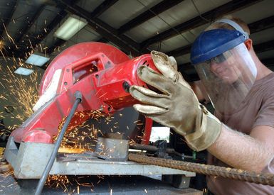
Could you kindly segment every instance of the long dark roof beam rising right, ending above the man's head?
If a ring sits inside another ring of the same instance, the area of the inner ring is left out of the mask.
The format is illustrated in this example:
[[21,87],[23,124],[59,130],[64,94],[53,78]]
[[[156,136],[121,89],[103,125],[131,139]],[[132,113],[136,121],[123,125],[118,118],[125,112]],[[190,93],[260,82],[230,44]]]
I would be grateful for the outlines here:
[[[196,16],[195,18],[192,18],[189,21],[186,21],[186,22],[181,23],[177,26],[174,26],[174,28],[169,28],[168,30],[165,30],[164,32],[159,33],[158,35],[155,35],[152,38],[148,38],[147,40],[144,40],[141,43],[141,48],[147,48],[149,45],[152,45],[157,42],[161,42],[162,40],[171,38],[174,35],[178,35],[178,32],[184,33],[187,30],[191,30],[196,27],[202,26],[202,25],[208,23],[208,21],[213,21],[214,18],[219,18],[226,14],[233,13],[235,11],[244,9],[248,6],[258,3],[259,1],[262,1],[262,0],[233,0],[233,1],[229,1],[228,3],[223,4],[222,6],[218,6],[216,9],[212,9],[211,11],[207,11],[206,13],[201,14],[201,16]],[[206,20],[208,20],[208,21],[204,20],[201,17],[206,18]]]

